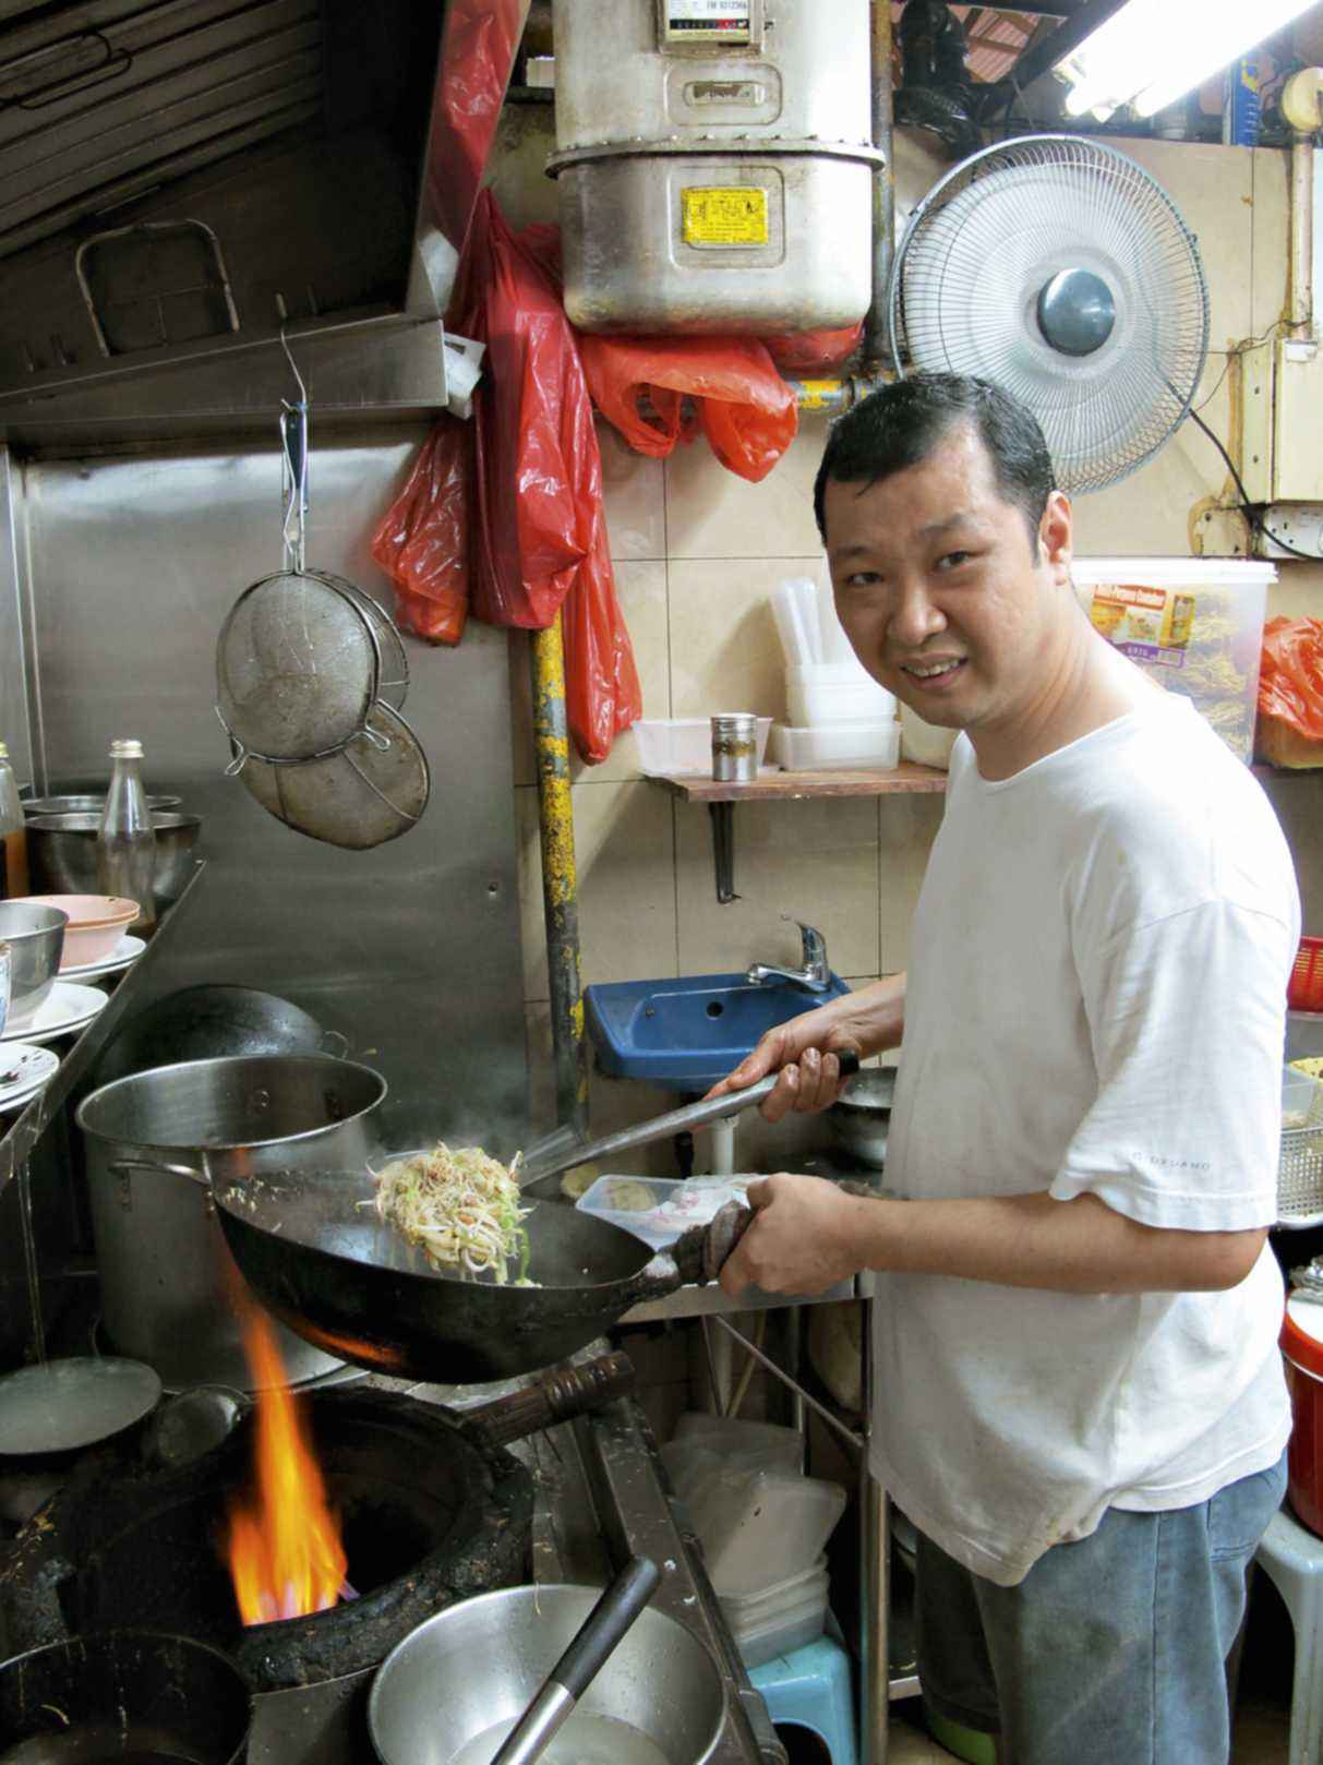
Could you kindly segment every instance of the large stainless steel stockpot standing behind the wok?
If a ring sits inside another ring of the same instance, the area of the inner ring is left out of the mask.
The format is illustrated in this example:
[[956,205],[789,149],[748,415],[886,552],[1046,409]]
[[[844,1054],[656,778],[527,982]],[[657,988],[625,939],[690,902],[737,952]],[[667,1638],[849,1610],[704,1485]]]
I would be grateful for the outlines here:
[[[86,1135],[102,1318],[122,1354],[164,1384],[249,1389],[242,1283],[199,1183],[254,1183],[326,1161],[363,1168],[367,1115],[386,1094],[369,1066],[330,1055],[243,1055],[157,1066],[93,1091]],[[339,1363],[279,1331],[291,1384]]]

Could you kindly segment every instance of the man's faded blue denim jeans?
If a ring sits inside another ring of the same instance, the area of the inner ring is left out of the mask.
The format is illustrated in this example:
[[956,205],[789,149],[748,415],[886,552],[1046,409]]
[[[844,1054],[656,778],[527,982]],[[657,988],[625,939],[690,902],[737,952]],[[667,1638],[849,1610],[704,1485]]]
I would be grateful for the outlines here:
[[1286,1460],[1196,1507],[1110,1507],[997,1587],[919,1536],[919,1679],[1011,1765],[1226,1765],[1226,1657]]

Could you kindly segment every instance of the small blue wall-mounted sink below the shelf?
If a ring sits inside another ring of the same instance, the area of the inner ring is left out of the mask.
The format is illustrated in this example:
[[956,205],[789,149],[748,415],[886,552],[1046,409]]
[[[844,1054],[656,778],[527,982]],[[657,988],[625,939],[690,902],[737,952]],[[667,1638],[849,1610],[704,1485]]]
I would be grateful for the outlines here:
[[739,1066],[764,1031],[848,990],[836,974],[820,994],[792,981],[686,974],[586,987],[584,1013],[603,1073],[647,1078],[667,1091],[706,1091]]

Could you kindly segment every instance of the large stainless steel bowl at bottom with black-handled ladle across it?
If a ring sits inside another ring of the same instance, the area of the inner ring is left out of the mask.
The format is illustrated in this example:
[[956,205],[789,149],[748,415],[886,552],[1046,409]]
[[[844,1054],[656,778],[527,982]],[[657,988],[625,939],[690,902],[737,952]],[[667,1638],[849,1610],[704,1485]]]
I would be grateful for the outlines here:
[[[505,1587],[420,1624],[372,1682],[367,1726],[383,1765],[450,1760],[494,1730],[490,1753],[475,1751],[475,1760],[489,1760],[598,1596],[600,1588],[563,1583]],[[704,1765],[725,1719],[716,1661],[683,1624],[649,1608],[561,1730],[566,1758],[575,1724],[593,1728],[602,1717],[623,1726],[614,1735],[605,1730],[614,1744],[593,1756],[630,1760],[628,1730],[635,1730],[667,1765]]]

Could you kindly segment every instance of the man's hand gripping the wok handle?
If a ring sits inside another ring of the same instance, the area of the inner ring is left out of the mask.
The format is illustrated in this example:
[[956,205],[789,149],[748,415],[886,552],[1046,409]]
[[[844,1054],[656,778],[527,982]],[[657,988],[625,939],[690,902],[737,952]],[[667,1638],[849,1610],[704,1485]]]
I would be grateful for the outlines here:
[[820,1294],[864,1266],[854,1211],[861,1204],[824,1177],[762,1177],[748,1186],[755,1220],[721,1269],[721,1290]]

